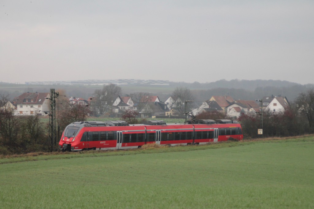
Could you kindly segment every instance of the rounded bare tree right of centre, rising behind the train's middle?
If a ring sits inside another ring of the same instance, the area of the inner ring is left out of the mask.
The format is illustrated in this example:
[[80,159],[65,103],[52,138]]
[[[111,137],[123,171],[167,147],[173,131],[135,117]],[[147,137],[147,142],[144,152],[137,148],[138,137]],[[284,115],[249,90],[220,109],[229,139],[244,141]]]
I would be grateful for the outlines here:
[[191,103],[187,101],[193,100],[193,94],[190,89],[185,86],[176,87],[176,89],[172,92],[171,97],[175,101],[172,104],[172,108],[179,112],[181,115],[191,111]]

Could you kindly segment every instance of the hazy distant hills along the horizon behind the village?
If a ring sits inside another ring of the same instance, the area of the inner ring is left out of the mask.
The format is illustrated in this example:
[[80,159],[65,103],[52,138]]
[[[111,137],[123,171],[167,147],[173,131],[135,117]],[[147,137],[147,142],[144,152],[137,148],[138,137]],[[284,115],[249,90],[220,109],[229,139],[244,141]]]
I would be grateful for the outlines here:
[[[161,81],[160,81],[161,82]],[[301,85],[289,81],[280,80],[219,80],[209,83],[185,83],[185,82],[169,82],[169,85],[154,85],[149,82],[143,84],[123,84],[122,96],[142,91],[149,92],[151,95],[158,95],[162,101],[178,86],[186,86],[193,94],[195,101],[205,101],[214,95],[229,95],[234,99],[255,100],[264,96],[284,96],[292,102],[301,92],[314,88],[313,84]],[[49,92],[51,88],[56,91],[62,89],[66,92],[66,96],[89,98],[96,89],[102,88],[102,85],[43,85],[43,84],[9,84],[0,82],[0,94],[9,95],[11,99],[21,95],[24,92]]]

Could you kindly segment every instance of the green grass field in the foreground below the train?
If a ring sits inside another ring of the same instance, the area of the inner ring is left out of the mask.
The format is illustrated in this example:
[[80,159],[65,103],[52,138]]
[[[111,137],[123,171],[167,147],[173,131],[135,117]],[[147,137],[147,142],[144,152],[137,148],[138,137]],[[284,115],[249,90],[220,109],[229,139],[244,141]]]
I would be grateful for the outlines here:
[[1,208],[314,208],[314,138],[0,158]]

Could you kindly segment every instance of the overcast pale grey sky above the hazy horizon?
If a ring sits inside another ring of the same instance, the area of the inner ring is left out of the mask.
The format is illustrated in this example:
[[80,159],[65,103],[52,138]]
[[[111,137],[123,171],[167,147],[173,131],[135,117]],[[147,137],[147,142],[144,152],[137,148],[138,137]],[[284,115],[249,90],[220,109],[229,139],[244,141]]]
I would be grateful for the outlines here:
[[314,83],[314,1],[0,0],[0,81]]

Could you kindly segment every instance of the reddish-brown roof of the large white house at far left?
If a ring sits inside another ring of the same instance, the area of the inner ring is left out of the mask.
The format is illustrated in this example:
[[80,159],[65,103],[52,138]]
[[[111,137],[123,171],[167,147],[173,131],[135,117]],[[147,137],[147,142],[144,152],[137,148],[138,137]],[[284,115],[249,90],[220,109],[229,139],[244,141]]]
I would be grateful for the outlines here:
[[22,95],[16,98],[17,105],[33,105],[33,104],[43,104],[46,98],[49,98],[49,93],[23,93]]

